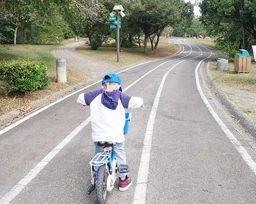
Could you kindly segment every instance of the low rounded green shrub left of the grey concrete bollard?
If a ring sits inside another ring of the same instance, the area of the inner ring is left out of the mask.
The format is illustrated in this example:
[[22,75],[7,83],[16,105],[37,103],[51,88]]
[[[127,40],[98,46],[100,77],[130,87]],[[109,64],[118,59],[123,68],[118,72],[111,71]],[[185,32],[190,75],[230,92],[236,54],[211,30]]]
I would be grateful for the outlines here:
[[32,92],[50,84],[47,66],[31,58],[0,63],[1,88],[6,94]]

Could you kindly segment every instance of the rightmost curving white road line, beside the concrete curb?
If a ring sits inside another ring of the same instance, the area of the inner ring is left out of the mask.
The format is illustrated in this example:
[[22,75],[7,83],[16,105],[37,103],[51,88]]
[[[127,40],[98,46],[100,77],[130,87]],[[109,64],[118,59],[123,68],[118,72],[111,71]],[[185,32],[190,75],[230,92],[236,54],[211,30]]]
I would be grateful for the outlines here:
[[199,64],[197,65],[197,67],[195,69],[197,90],[198,90],[204,104],[206,105],[207,109],[211,113],[211,115],[214,117],[216,122],[220,125],[220,127],[222,128],[222,130],[226,134],[227,138],[230,140],[230,142],[233,144],[233,146],[236,148],[236,150],[240,153],[243,160],[247,163],[247,165],[250,167],[252,172],[256,175],[256,163],[253,161],[253,159],[250,157],[250,155],[247,153],[247,151],[242,147],[242,145],[239,143],[239,141],[235,138],[234,134],[224,124],[224,122],[217,115],[217,113],[214,111],[214,109],[212,109],[212,107],[210,106],[209,102],[207,101],[206,97],[203,94],[203,91],[200,87],[200,83],[199,83],[199,79],[198,79],[198,73],[197,73],[198,67],[200,66],[200,64],[203,60],[201,60],[199,62]]

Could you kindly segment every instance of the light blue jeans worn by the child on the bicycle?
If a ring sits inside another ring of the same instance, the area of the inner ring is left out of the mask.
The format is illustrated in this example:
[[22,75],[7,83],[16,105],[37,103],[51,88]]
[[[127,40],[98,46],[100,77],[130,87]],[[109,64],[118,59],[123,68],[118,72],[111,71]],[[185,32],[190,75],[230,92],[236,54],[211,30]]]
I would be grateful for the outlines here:
[[[98,154],[99,152],[103,151],[104,147],[100,147],[94,143],[95,146],[95,155]],[[115,159],[117,162],[117,167],[119,167],[120,164],[126,164],[126,156],[125,156],[125,151],[124,151],[124,142],[122,143],[116,143],[116,145],[113,146],[114,153],[115,153]],[[119,177],[126,176],[129,173],[119,173]]]

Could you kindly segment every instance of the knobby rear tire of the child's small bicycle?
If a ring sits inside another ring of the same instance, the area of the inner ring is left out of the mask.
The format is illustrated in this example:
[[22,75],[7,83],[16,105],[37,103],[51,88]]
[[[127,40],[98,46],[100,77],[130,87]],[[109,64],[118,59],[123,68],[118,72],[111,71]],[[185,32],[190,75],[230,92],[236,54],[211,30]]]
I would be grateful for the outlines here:
[[108,172],[106,164],[104,164],[98,169],[97,182],[95,186],[96,199],[99,204],[105,204],[108,199],[109,192],[107,191],[107,178]]

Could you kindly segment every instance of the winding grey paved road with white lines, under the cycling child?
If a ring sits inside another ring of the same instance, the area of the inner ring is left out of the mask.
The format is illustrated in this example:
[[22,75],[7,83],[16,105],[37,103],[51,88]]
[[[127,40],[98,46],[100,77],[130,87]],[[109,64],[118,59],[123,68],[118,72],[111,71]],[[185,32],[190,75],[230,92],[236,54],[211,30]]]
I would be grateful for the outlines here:
[[[125,149],[133,185],[107,203],[256,203],[256,155],[247,134],[218,101],[201,70],[209,48],[175,40],[180,54],[119,74],[130,110]],[[199,66],[200,65],[200,66]],[[94,83],[31,113],[0,133],[0,203],[95,203],[90,111],[76,104]]]

